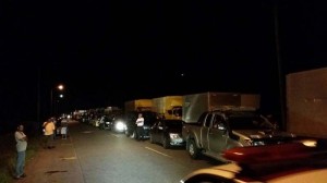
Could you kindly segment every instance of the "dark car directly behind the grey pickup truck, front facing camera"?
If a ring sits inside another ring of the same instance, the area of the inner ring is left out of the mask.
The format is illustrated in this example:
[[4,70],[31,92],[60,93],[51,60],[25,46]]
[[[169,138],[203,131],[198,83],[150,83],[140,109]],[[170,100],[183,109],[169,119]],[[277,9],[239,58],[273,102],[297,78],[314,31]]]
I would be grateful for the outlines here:
[[161,144],[164,148],[184,146],[182,127],[182,120],[158,119],[149,130],[149,141],[150,143]]

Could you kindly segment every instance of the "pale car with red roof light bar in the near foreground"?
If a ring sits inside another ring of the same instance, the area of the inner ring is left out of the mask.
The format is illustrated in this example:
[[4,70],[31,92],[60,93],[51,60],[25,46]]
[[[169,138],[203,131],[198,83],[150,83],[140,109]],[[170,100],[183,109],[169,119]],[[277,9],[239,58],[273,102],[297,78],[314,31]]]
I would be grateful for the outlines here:
[[223,154],[230,163],[199,169],[180,183],[325,183],[326,146],[302,143],[235,147]]

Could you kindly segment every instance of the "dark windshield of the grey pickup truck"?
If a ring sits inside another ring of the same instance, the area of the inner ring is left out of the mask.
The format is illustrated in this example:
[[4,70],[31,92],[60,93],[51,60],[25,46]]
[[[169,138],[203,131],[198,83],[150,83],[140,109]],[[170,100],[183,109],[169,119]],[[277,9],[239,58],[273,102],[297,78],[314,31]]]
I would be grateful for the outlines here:
[[232,130],[271,130],[274,125],[258,115],[234,115],[229,118]]

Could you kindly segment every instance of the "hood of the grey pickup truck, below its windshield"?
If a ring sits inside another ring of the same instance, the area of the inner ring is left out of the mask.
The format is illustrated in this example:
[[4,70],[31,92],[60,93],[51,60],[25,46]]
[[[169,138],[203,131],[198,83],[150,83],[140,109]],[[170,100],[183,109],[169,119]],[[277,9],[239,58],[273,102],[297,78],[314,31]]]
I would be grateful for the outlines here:
[[251,139],[294,138],[295,134],[275,130],[237,130],[234,135]]

